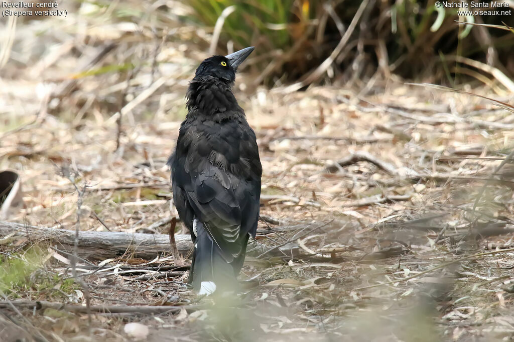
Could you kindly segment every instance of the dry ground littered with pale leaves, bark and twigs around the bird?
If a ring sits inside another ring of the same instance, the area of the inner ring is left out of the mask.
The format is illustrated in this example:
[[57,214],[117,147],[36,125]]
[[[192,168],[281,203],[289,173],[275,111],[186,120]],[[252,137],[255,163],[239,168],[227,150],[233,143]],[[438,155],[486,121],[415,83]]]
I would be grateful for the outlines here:
[[[148,227],[174,215],[165,163],[205,53],[166,43],[155,50],[157,63],[134,59],[134,72],[86,75],[77,72],[102,52],[106,64],[130,54],[151,61],[154,45],[141,52],[56,39],[39,63],[3,70],[0,81],[0,169],[19,172],[25,204],[9,220],[75,229],[81,204],[81,230],[166,234],[168,226]],[[132,340],[124,327],[134,322],[149,328],[142,340],[151,341],[512,339],[512,162],[495,172],[512,147],[512,113],[395,77],[362,91],[293,93],[251,81],[242,73],[235,90],[264,169],[256,241],[280,248],[247,257],[244,294],[198,298],[183,284],[186,269],[155,271],[174,265],[170,253],[127,254],[79,260],[90,304],[180,308],[90,317],[7,309],[7,301],[85,303],[69,255],[45,245],[34,261],[38,244],[28,233],[0,239],[2,253],[39,265],[5,291],[4,340]]]

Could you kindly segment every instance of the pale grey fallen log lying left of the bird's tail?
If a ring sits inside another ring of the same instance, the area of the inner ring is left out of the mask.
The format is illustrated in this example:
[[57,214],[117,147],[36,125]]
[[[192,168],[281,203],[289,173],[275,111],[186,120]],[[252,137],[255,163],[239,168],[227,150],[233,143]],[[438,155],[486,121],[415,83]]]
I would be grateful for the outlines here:
[[[0,221],[0,236],[26,237],[33,242],[45,241],[59,249],[71,252],[75,242],[75,230],[26,226]],[[189,234],[176,234],[177,249],[187,255],[193,247]],[[2,240],[0,240],[0,244]],[[170,237],[165,234],[126,232],[80,231],[78,256],[89,260],[105,260],[121,255],[155,258],[163,253],[171,255]]]

